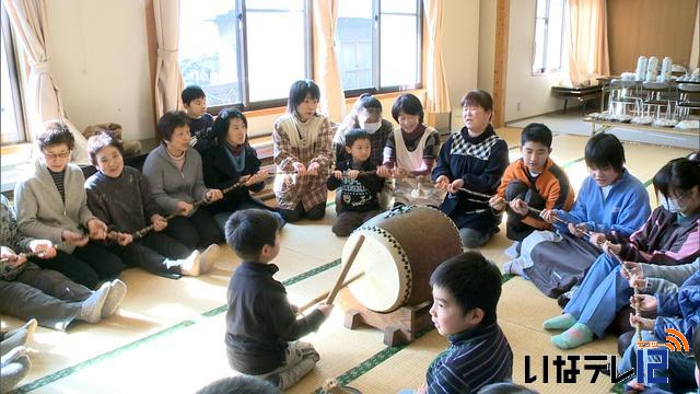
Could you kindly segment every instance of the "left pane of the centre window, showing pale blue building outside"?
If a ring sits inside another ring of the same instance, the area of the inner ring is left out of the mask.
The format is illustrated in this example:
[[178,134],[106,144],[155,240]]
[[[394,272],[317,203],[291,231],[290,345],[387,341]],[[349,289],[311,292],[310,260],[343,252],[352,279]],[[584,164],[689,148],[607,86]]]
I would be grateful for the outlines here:
[[340,0],[336,47],[343,90],[372,88],[372,0]]

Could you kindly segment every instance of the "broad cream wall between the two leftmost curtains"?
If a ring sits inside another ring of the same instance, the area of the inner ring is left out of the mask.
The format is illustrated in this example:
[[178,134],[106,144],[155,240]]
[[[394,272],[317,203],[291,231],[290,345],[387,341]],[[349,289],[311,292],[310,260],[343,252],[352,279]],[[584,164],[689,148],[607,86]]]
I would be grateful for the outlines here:
[[139,0],[47,1],[50,68],[79,129],[114,121],[125,139],[153,136],[153,96]]

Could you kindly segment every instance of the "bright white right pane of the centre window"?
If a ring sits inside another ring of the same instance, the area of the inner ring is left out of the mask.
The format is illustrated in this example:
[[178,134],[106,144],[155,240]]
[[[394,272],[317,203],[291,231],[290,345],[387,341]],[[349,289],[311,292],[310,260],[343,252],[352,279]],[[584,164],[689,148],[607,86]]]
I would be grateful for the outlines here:
[[[384,2],[382,2],[384,3]],[[382,14],[380,83],[382,86],[415,84],[418,76],[417,18]]]

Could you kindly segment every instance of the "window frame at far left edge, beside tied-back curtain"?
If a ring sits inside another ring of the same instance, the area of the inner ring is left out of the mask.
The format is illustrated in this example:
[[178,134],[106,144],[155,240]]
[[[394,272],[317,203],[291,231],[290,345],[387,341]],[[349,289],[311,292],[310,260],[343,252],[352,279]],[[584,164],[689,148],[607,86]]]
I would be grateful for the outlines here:
[[10,77],[10,90],[12,92],[12,104],[14,109],[14,119],[15,127],[18,129],[18,134],[20,135],[19,141],[12,142],[3,142],[0,143],[2,147],[15,146],[21,143],[31,142],[31,136],[27,132],[26,121],[24,118],[24,102],[22,100],[22,89],[20,81],[20,70],[18,68],[18,53],[16,45],[14,42],[14,36],[12,34],[12,28],[10,26],[10,19],[8,15],[8,11],[4,8],[4,3],[0,5],[0,21],[2,24],[2,40],[4,42],[5,54],[0,54],[0,56],[4,56],[8,62],[8,72]]

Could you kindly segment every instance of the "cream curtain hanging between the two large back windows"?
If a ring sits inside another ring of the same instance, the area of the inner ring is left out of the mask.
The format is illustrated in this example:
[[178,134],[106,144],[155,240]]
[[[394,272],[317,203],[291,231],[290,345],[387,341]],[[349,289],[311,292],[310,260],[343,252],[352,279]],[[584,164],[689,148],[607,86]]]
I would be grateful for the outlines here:
[[346,115],[346,96],[340,81],[336,25],[338,0],[314,0],[314,80],[320,89],[320,108],[331,121],[339,123]]

